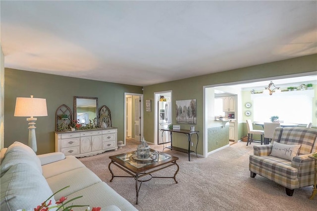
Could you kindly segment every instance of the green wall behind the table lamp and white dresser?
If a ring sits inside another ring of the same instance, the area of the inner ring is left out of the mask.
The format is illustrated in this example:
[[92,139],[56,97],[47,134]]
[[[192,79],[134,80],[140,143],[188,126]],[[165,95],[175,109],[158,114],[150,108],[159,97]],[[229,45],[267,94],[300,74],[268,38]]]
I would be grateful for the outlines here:
[[14,117],[17,97],[45,98],[48,116],[37,117],[37,154],[54,152],[55,111],[65,104],[73,111],[73,97],[97,97],[99,108],[111,111],[112,126],[118,128],[118,141],[124,140],[124,93],[142,94],[142,87],[80,78],[57,76],[5,68],[4,147],[14,141],[28,143],[26,117]]

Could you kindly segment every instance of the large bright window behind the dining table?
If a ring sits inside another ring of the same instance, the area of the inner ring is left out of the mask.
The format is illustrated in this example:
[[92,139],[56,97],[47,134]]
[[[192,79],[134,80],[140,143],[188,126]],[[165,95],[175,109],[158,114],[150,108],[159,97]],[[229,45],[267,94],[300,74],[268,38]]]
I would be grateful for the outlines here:
[[313,121],[313,90],[282,92],[273,95],[254,94],[254,121],[268,122],[271,116],[288,123]]

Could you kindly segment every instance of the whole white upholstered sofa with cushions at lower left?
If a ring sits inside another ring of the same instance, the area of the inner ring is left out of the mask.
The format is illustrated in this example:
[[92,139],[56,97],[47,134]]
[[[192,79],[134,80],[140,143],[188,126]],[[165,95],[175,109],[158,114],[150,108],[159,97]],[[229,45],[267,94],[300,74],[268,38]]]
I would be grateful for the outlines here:
[[[31,148],[14,142],[1,149],[1,211],[33,210],[56,191],[52,206],[60,197],[73,205],[101,207],[102,211],[137,211],[126,199],[73,156],[49,153],[36,156]],[[105,170],[107,166],[105,166]],[[87,207],[73,208],[74,211]],[[50,210],[51,211],[51,210]]]

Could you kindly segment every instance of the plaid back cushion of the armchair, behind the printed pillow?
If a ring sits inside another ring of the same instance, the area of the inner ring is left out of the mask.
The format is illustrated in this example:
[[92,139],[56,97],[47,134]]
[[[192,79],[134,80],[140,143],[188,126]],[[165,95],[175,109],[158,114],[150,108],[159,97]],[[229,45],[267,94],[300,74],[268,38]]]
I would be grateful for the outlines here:
[[313,146],[317,138],[317,130],[303,127],[284,127],[280,135],[281,144],[301,145],[298,155],[313,153]]

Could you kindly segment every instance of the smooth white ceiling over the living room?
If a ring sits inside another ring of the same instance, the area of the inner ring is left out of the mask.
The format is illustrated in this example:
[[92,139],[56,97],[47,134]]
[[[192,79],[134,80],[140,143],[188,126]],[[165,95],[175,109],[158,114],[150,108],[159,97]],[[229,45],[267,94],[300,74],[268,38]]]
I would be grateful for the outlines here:
[[317,1],[0,2],[4,67],[147,86],[317,53]]

